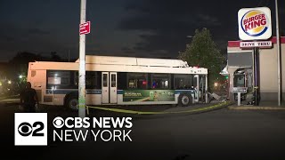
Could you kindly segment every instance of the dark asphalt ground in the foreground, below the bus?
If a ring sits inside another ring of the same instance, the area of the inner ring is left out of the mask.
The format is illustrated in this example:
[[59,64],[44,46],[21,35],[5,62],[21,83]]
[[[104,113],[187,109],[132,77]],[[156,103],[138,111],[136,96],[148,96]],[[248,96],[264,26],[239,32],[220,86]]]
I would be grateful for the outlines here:
[[[0,101],[17,103],[18,100]],[[216,102],[212,101],[211,105]],[[260,103],[259,107],[274,106],[278,107],[272,101]],[[142,106],[125,107],[136,109]],[[186,111],[206,107],[209,107],[208,104],[186,108],[147,105],[142,107],[142,111]],[[229,107],[242,106],[232,104]],[[123,116],[110,111],[93,110],[93,117]],[[92,136],[86,141],[67,142],[53,140],[53,118],[77,116],[77,112],[52,106],[43,110],[48,113],[47,147],[14,146],[13,119],[14,112],[17,111],[17,105],[0,108],[0,141],[4,146],[2,156],[9,157],[8,159],[285,159],[285,112],[279,110],[229,110],[224,107],[191,116],[189,113],[126,115],[133,117],[134,126],[130,134],[132,142],[94,141]]]

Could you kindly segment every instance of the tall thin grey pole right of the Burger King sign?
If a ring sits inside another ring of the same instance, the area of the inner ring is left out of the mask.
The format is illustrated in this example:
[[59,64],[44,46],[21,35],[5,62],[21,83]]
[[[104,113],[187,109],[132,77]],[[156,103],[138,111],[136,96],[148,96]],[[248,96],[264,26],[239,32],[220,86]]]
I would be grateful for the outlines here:
[[278,106],[281,106],[281,61],[280,61],[280,39],[279,39],[279,18],[278,18],[278,4],[275,0],[276,13],[276,41],[277,41],[277,76],[278,76]]

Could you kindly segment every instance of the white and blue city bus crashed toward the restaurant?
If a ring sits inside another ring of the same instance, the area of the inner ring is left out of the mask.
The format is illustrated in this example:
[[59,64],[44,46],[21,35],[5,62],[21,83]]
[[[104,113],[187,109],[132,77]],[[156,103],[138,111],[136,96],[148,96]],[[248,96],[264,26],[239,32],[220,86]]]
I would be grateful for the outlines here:
[[[79,60],[28,63],[40,104],[77,109]],[[86,105],[179,105],[207,101],[208,69],[183,60],[85,56]]]

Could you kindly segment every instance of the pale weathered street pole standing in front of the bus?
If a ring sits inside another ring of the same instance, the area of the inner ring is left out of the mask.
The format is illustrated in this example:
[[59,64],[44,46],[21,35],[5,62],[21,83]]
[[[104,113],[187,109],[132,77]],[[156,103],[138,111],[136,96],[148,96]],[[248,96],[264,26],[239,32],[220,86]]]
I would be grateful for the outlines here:
[[[86,0],[81,0],[80,24],[85,23]],[[79,36],[78,116],[85,117],[85,34]]]

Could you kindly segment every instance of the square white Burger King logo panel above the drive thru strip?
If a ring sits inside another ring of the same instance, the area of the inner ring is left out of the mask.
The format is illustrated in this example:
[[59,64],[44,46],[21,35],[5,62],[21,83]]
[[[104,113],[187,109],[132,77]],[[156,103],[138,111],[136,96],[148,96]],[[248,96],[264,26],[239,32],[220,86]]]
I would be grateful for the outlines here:
[[265,40],[272,36],[271,12],[269,8],[240,9],[238,19],[241,40]]

